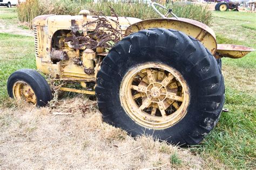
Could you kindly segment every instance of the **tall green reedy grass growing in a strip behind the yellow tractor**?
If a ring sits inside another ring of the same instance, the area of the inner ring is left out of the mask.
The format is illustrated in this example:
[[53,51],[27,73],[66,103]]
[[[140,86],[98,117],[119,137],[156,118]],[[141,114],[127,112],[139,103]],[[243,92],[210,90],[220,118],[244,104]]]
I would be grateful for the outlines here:
[[[56,15],[77,15],[80,10],[88,9],[95,12],[102,12],[105,16],[111,16],[110,8],[116,11],[118,16],[135,17],[140,19],[159,18],[159,15],[151,8],[151,6],[143,3],[92,3],[89,1],[39,1],[27,0],[18,6],[18,19],[21,22],[27,22],[29,26],[32,19],[39,15],[56,14]],[[207,6],[202,5],[167,5],[172,8],[178,17],[190,18],[198,20],[205,24],[211,24],[212,13]],[[164,13],[165,11],[163,11]]]

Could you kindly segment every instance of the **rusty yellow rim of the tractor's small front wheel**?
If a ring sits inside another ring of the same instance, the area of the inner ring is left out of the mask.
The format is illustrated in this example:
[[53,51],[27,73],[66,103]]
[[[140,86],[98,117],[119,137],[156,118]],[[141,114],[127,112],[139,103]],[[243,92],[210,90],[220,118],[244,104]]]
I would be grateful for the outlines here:
[[14,98],[19,100],[25,100],[26,102],[33,104],[37,103],[35,92],[29,84],[24,81],[17,81],[14,83],[12,94],[14,95]]

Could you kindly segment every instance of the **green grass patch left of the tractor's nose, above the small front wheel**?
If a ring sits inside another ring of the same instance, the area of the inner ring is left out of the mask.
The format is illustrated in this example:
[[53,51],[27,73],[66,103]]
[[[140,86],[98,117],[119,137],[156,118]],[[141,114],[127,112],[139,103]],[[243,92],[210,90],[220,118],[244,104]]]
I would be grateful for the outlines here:
[[0,104],[8,97],[6,82],[21,68],[36,68],[33,37],[0,33]]

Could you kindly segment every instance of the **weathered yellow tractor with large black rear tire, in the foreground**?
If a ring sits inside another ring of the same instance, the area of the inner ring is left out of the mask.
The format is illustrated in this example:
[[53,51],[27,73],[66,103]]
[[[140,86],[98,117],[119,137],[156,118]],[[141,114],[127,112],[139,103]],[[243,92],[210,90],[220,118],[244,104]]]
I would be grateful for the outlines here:
[[[96,94],[103,120],[133,137],[198,144],[223,109],[221,58],[254,49],[217,44],[207,25],[178,18],[160,4],[152,8],[162,18],[91,16],[87,10],[36,17],[37,68],[65,82],[60,90]],[[8,94],[38,107],[52,99],[49,84],[32,69],[10,75]]]

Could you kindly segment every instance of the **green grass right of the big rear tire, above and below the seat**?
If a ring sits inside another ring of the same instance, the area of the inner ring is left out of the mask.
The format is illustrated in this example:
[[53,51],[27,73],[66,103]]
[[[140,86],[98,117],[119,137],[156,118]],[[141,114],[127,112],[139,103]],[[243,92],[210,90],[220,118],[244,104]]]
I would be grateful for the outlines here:
[[[214,11],[213,15],[218,44],[256,48],[255,13]],[[251,28],[243,27],[245,23]],[[229,75],[224,77],[224,108],[229,112],[223,112],[219,123],[203,143],[192,148],[205,159],[211,156],[230,168],[256,167],[256,90],[251,87],[255,86],[256,80],[255,58],[256,52],[242,59],[223,58],[223,73]]]

